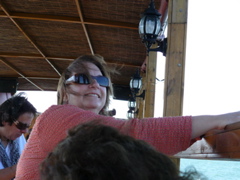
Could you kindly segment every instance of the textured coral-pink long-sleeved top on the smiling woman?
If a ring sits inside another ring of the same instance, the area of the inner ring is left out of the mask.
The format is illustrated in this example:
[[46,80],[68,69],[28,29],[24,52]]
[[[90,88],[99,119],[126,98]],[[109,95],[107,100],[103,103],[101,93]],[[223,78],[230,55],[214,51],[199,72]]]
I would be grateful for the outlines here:
[[38,180],[39,166],[56,144],[66,137],[67,130],[91,120],[100,119],[122,133],[142,139],[162,153],[173,155],[191,143],[192,119],[163,117],[120,120],[101,116],[72,105],[54,105],[41,114],[17,165],[16,180]]

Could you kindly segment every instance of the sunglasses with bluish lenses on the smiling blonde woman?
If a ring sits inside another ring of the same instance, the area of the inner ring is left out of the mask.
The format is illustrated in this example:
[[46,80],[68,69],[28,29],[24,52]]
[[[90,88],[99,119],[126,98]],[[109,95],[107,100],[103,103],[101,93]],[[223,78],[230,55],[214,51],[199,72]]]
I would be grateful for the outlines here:
[[[109,87],[109,79],[106,76],[90,76],[95,79],[100,86]],[[91,84],[86,74],[76,74],[66,80],[67,83],[78,83],[78,84]]]

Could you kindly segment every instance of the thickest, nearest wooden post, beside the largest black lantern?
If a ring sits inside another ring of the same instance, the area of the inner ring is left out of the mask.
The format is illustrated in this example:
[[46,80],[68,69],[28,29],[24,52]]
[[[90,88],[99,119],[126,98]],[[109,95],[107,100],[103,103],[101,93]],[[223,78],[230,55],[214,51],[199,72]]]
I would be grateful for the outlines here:
[[[187,0],[169,0],[168,47],[165,69],[163,116],[180,116],[183,108],[187,36]],[[173,158],[179,166],[180,159]]]

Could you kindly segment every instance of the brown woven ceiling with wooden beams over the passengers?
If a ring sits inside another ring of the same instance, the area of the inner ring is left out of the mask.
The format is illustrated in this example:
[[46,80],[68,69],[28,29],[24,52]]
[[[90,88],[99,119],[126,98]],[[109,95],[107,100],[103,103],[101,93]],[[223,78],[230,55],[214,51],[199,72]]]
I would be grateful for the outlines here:
[[[69,63],[83,54],[100,54],[120,72],[112,76],[115,89],[127,94],[131,76],[146,57],[138,23],[149,3],[1,0],[0,78],[18,78],[21,91],[56,91]],[[155,7],[160,9],[161,0]]]

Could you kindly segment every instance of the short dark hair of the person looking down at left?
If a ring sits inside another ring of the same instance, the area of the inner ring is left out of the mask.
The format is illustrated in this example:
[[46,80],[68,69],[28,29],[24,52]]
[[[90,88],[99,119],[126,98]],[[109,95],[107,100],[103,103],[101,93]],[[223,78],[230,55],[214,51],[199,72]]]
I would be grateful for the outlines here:
[[24,93],[12,96],[0,105],[0,126],[3,126],[3,122],[12,125],[13,121],[24,113],[33,113],[35,116],[37,110]]

